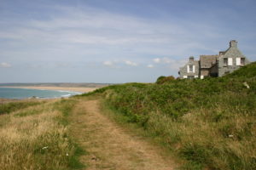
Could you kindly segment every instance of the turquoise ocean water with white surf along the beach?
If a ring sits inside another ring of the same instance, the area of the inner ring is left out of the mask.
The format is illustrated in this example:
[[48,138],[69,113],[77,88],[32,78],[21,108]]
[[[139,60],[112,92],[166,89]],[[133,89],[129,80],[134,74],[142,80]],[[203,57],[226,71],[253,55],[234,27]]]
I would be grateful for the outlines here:
[[27,89],[27,88],[0,88],[0,98],[5,99],[28,99],[32,97],[51,99],[70,97],[78,92],[69,92],[61,90],[39,90],[39,89]]

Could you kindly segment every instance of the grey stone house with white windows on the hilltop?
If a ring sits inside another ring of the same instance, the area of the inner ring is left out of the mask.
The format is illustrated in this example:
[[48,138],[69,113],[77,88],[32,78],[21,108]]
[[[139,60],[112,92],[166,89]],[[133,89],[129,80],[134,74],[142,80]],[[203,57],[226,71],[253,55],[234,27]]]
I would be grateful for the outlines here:
[[180,68],[180,78],[222,77],[249,64],[245,55],[237,48],[236,40],[230,41],[230,48],[217,55],[200,55],[199,60],[189,57],[189,62]]

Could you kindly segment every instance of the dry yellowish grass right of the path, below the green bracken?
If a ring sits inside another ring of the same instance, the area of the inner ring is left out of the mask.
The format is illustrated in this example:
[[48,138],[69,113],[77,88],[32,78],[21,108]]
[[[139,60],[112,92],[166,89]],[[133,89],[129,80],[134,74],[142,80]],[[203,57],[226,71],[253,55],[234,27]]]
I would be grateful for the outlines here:
[[170,150],[176,150],[193,163],[184,169],[201,169],[194,162],[205,162],[210,169],[253,170],[256,167],[255,117],[232,115],[218,122],[209,122],[208,118],[204,119],[208,112],[193,111],[179,122],[152,113],[147,132],[160,136],[161,142]]

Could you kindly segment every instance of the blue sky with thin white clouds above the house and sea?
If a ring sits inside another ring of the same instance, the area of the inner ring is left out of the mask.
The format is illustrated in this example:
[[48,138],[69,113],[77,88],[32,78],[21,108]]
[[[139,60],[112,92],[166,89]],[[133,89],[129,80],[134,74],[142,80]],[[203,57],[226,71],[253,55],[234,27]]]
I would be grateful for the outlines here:
[[1,82],[155,82],[230,40],[256,60],[255,0],[0,0]]

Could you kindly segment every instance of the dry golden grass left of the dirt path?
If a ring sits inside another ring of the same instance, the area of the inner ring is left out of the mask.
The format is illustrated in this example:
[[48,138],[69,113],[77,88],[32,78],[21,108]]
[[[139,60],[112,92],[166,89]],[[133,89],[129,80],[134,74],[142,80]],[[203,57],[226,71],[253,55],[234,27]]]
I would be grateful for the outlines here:
[[[62,123],[75,102],[72,99],[44,103],[20,101],[2,107],[9,114],[0,116],[1,169],[84,167],[78,159],[82,151],[71,138],[67,124]],[[15,105],[15,109],[5,109],[9,105]]]

